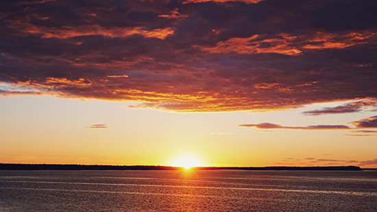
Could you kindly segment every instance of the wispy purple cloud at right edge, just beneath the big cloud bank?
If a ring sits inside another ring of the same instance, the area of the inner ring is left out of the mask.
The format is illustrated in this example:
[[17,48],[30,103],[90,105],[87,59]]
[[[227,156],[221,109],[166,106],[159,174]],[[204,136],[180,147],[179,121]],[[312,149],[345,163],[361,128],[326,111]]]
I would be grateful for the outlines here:
[[375,110],[377,107],[376,99],[365,99],[358,102],[351,102],[336,107],[322,108],[321,110],[309,110],[305,111],[304,115],[328,115],[328,114],[340,114],[340,113],[357,113],[362,112],[366,108],[372,108]]

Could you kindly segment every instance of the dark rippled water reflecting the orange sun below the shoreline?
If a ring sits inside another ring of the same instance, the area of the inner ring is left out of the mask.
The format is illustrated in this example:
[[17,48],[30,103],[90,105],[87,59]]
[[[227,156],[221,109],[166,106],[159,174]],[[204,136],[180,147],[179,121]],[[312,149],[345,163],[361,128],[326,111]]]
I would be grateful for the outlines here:
[[0,171],[0,211],[377,211],[377,171]]

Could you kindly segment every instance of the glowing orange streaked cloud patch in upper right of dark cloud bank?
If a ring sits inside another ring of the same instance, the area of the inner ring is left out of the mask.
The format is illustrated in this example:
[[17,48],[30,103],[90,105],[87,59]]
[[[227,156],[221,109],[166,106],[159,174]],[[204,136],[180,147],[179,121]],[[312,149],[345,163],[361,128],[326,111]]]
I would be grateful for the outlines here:
[[314,36],[280,34],[277,38],[266,38],[256,34],[249,38],[230,38],[217,43],[216,47],[196,47],[199,47],[202,51],[217,54],[235,52],[238,54],[276,53],[299,56],[304,49],[343,49],[368,43],[371,38],[377,38],[375,31],[351,32],[348,34],[317,32]]

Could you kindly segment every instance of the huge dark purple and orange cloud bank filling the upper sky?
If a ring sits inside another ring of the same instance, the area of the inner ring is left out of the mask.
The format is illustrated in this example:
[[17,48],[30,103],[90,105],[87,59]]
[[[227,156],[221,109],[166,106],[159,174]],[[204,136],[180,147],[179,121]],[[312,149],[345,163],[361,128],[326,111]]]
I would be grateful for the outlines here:
[[[0,95],[182,112],[376,99],[376,10],[372,0],[4,1]],[[360,109],[344,107],[308,115]]]

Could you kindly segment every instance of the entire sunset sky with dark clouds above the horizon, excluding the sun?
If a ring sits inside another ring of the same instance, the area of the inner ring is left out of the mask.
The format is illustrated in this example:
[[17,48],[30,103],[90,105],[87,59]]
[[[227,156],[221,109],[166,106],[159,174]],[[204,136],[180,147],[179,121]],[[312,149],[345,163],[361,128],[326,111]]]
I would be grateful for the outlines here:
[[376,11],[1,1],[0,163],[377,168]]

